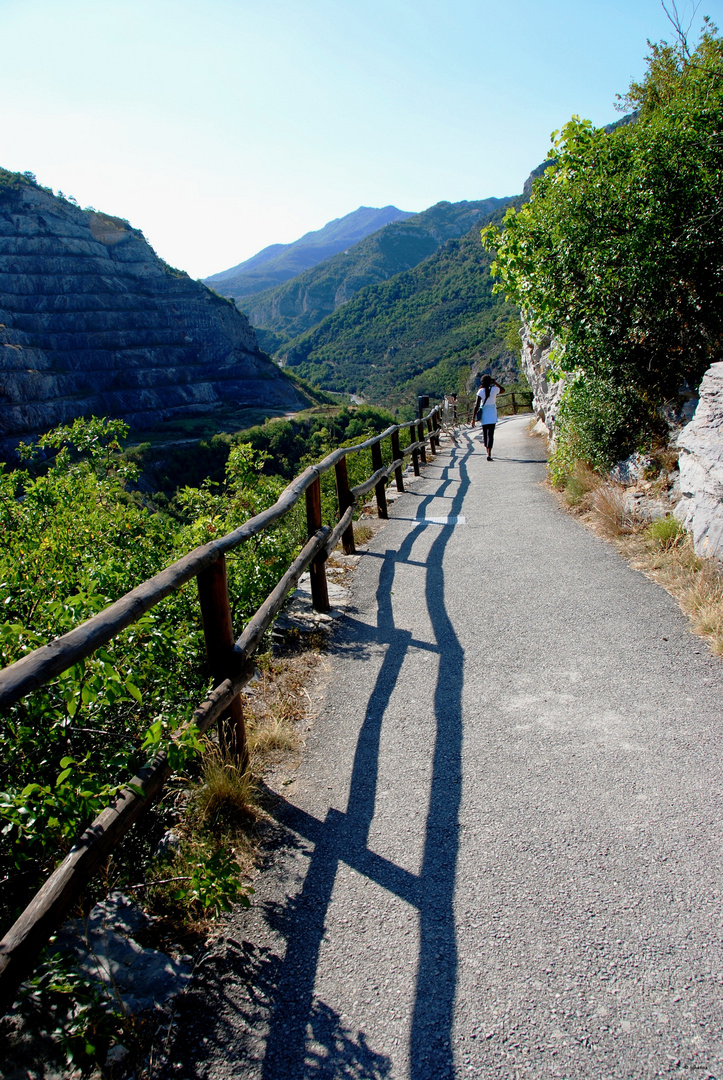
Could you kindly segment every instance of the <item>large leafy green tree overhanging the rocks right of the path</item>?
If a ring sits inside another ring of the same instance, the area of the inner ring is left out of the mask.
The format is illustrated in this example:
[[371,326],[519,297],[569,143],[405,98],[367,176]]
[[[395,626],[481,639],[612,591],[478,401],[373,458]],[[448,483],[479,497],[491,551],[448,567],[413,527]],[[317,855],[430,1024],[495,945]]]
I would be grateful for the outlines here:
[[651,46],[606,134],[574,117],[531,201],[483,237],[496,288],[565,375],[553,467],[605,468],[664,434],[659,408],[723,343],[723,43]]

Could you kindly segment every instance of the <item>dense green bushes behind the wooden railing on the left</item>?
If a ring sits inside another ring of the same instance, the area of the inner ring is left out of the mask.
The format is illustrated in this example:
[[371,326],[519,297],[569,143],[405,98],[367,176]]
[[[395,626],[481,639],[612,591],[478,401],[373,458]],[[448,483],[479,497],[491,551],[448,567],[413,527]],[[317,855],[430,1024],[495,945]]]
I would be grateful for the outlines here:
[[[227,444],[223,482],[185,486],[163,512],[133,492],[137,467],[120,453],[118,420],[77,420],[0,471],[0,666],[102,610],[188,551],[271,505],[289,478],[339,441],[388,426],[346,409],[280,421]],[[352,484],[373,471],[349,459]],[[333,471],[325,521],[336,519]],[[227,557],[237,633],[306,539],[304,504]],[[0,933],[118,785],[185,721],[209,685],[195,582],[152,608],[88,660],[5,711],[0,726]],[[198,748],[192,735],[186,750]],[[158,837],[156,838],[158,839]],[[115,880],[143,872],[116,865]]]

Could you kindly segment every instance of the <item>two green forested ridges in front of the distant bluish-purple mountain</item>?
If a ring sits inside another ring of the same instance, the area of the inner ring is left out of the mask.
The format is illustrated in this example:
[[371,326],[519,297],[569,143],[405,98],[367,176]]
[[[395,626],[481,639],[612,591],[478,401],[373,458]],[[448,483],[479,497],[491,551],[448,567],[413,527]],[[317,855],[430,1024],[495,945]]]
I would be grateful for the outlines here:
[[[516,378],[517,313],[492,293],[480,228],[521,199],[437,203],[237,303],[279,363],[376,404],[456,390],[471,365]],[[219,278],[207,280],[230,296]]]

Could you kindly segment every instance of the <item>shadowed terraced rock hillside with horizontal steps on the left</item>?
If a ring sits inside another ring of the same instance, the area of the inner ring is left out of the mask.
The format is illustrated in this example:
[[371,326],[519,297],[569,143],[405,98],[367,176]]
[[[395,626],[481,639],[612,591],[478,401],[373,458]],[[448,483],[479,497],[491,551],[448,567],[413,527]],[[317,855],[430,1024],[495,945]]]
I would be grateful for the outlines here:
[[222,403],[305,404],[247,320],[139,231],[0,172],[0,441],[78,416],[143,428]]

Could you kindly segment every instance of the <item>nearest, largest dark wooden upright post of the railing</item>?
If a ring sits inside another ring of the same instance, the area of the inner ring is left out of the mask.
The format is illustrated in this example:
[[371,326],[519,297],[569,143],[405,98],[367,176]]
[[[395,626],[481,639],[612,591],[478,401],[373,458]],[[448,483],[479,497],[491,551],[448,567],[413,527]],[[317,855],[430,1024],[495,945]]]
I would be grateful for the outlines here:
[[[224,556],[220,555],[215,563],[201,570],[196,581],[201,603],[205,651],[211,677],[217,686],[231,674],[229,669],[233,652],[233,626]],[[218,718],[218,741],[222,751],[245,772],[249,768],[249,746],[240,696],[233,699],[228,711]]]

